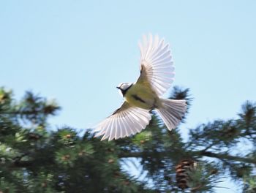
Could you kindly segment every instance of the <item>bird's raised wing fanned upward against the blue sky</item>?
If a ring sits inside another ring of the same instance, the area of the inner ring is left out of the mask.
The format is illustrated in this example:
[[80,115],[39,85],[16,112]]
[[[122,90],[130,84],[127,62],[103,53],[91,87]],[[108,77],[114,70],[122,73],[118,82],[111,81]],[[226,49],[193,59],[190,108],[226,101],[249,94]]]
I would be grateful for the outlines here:
[[174,67],[169,45],[164,39],[151,34],[143,36],[140,47],[140,77],[137,83],[151,86],[158,96],[170,88],[174,77]]

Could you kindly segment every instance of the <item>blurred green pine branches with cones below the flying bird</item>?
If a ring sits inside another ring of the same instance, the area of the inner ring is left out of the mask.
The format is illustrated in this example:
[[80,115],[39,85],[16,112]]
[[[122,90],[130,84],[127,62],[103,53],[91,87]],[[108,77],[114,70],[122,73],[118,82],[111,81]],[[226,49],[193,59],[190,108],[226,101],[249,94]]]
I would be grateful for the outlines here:
[[[191,103],[189,89],[175,87],[170,98]],[[59,110],[31,92],[18,102],[0,89],[0,192],[214,192],[227,174],[244,192],[255,192],[252,102],[237,119],[190,129],[187,141],[154,114],[143,132],[111,142],[90,129],[83,136],[69,126],[53,131],[48,118]],[[123,169],[130,158],[138,158],[144,180]]]

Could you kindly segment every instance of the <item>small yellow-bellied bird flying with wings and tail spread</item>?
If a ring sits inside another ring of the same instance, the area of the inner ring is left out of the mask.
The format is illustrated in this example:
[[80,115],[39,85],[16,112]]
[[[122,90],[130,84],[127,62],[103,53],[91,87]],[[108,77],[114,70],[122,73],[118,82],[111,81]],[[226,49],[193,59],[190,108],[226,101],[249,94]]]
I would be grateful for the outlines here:
[[156,111],[168,130],[176,128],[187,111],[185,99],[165,99],[163,94],[174,80],[170,46],[158,35],[143,35],[139,42],[140,76],[135,83],[120,83],[116,88],[124,97],[121,107],[94,128],[101,140],[117,140],[141,132]]

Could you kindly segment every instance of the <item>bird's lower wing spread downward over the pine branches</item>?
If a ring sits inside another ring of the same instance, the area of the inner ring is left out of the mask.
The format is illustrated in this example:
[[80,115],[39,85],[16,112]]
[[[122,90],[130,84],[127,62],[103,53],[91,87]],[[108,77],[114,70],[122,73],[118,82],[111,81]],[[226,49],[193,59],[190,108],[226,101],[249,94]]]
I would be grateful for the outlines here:
[[102,140],[126,137],[145,129],[150,120],[151,114],[148,110],[124,102],[118,110],[94,129],[95,132],[98,132],[95,137],[103,135]]

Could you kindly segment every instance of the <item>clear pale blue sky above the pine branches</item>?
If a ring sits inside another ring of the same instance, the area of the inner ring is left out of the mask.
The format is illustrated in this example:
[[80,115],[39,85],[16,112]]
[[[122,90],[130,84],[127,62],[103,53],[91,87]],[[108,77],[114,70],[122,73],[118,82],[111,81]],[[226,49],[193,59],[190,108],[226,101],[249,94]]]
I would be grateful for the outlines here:
[[186,133],[255,101],[255,10],[254,0],[0,1],[0,86],[56,99],[53,125],[89,128],[121,105],[118,83],[137,80],[142,34],[159,34],[173,85],[194,98]]

